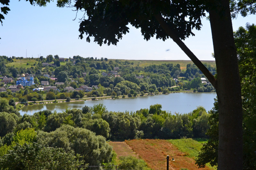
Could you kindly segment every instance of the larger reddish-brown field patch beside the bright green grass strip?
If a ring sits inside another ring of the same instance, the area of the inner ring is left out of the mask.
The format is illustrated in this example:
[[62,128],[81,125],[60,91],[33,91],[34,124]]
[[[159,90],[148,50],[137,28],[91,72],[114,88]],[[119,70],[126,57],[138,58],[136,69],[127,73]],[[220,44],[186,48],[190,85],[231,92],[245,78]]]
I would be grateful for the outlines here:
[[[154,170],[166,169],[166,156],[169,155],[169,169],[179,170],[187,168],[189,170],[198,170],[195,160],[186,157],[186,154],[181,154],[180,150],[170,142],[161,139],[144,139],[144,140],[126,140],[134,152],[140,155],[141,159],[145,160],[148,167]],[[172,156],[175,161],[171,161]],[[160,159],[160,160],[159,160]],[[209,168],[202,168],[209,170]]]

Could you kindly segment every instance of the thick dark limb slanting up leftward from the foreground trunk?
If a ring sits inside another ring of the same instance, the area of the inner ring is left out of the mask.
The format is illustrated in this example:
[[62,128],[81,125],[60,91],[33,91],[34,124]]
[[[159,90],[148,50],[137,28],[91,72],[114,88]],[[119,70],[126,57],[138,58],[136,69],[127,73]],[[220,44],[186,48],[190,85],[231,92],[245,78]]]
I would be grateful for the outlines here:
[[186,55],[192,60],[193,63],[196,64],[196,66],[204,73],[206,78],[212,83],[213,87],[216,89],[216,78],[212,75],[212,73],[204,66],[204,64],[198,60],[196,55],[190,51],[190,49],[184,44],[183,41],[180,40],[180,38],[177,36],[178,33],[175,33],[175,31],[166,24],[164,21],[163,16],[159,13],[155,15],[156,20],[160,24],[160,26],[164,29],[164,31],[172,38],[172,40],[184,51]]

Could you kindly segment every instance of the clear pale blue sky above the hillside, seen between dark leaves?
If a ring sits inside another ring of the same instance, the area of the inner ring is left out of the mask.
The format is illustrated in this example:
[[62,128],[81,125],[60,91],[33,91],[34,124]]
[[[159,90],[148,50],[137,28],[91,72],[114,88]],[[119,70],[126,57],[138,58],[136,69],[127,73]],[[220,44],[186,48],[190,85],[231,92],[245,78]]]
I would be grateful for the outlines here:
[[[57,54],[64,58],[80,55],[108,59],[190,60],[171,39],[162,41],[152,38],[146,41],[140,29],[132,26],[130,33],[124,35],[117,46],[100,47],[95,42],[80,40],[79,20],[73,21],[76,11],[58,8],[56,2],[39,7],[25,1],[11,1],[9,8],[11,11],[4,16],[3,26],[0,26],[0,55],[26,57],[27,50],[27,57]],[[81,13],[77,18],[79,16]],[[255,15],[246,18],[238,16],[233,20],[233,29],[255,21]],[[196,36],[190,36],[184,43],[199,60],[214,60],[211,56],[213,46],[209,21],[203,19],[202,29],[194,33]]]

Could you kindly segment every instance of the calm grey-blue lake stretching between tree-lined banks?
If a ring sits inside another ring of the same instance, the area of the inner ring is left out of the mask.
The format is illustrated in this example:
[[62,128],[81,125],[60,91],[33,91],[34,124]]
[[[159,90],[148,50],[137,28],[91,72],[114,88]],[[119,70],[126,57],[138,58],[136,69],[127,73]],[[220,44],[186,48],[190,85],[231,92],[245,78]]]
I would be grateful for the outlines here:
[[24,106],[20,110],[20,114],[33,115],[40,110],[56,110],[62,112],[67,107],[82,109],[84,105],[93,106],[94,104],[102,103],[106,106],[108,111],[136,111],[141,108],[149,108],[150,105],[161,104],[162,110],[171,113],[188,113],[196,109],[197,106],[203,106],[206,111],[211,110],[216,98],[216,92],[203,93],[170,93],[140,97],[129,97],[119,99],[105,99],[105,100],[87,100],[74,102],[61,102]]

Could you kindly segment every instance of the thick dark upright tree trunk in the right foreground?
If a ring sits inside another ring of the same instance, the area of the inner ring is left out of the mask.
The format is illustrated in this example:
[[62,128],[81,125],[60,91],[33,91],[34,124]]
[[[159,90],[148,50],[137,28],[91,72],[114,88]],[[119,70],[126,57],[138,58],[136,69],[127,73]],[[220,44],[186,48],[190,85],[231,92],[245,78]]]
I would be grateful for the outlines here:
[[234,170],[243,168],[241,84],[229,1],[218,2],[209,10],[219,103],[218,169]]

